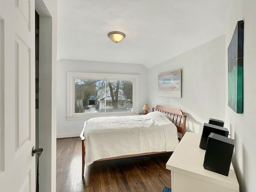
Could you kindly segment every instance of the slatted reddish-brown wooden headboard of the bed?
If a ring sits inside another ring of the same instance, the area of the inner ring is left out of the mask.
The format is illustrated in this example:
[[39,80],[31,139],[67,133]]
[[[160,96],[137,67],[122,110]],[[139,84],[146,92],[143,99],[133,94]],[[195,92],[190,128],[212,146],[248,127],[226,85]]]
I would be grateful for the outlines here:
[[182,110],[157,105],[152,107],[152,111],[159,111],[170,116],[171,121],[176,125],[178,132],[182,134],[182,137],[186,133],[186,118],[187,116],[182,113]]

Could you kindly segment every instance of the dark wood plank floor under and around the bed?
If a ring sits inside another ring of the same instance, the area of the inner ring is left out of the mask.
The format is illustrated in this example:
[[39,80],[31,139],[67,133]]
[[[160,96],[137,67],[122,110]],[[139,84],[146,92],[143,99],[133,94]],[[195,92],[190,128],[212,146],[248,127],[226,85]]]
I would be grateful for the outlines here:
[[57,139],[56,192],[162,192],[171,153],[94,162],[82,179],[80,138]]

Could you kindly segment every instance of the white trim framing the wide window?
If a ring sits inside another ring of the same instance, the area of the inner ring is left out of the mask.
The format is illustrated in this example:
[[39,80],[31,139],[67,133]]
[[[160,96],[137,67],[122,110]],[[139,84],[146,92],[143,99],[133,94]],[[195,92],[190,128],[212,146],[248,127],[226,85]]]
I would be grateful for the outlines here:
[[110,115],[120,114],[116,112],[107,113],[90,113],[90,114],[75,114],[74,113],[74,79],[87,78],[87,79],[106,79],[106,80],[134,80],[133,85],[133,101],[134,110],[133,112],[124,112],[122,114],[138,114],[139,113],[139,75],[135,74],[100,74],[100,73],[81,73],[81,72],[67,72],[67,118],[78,118],[88,116],[99,116],[99,115]]

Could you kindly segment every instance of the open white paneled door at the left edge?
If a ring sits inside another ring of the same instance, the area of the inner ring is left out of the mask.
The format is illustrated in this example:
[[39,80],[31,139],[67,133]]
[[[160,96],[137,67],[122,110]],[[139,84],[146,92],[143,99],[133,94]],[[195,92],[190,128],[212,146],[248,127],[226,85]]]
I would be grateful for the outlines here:
[[34,0],[0,0],[0,191],[36,191]]

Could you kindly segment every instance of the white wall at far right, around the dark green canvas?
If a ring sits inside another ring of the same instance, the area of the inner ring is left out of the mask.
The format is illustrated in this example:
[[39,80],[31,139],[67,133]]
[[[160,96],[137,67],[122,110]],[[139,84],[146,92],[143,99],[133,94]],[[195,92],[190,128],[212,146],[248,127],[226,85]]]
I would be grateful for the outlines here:
[[[238,175],[241,192],[256,191],[256,1],[232,0],[226,21],[226,50],[236,23],[244,20],[244,108],[236,114],[228,107],[226,88],[225,125],[235,136],[235,158],[233,165]],[[226,66],[228,66],[226,52]],[[226,87],[228,68],[226,68]]]

